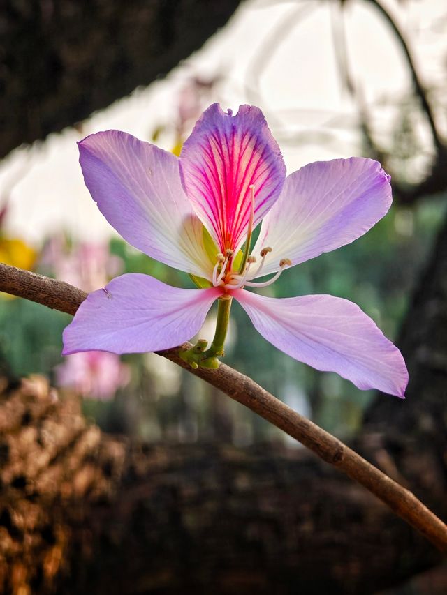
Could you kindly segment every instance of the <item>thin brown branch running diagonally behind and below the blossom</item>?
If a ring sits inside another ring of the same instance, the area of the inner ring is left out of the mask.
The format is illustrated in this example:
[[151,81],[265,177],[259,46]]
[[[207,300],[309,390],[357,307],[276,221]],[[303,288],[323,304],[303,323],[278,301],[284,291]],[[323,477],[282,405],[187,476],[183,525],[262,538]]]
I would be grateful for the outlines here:
[[[6,264],[0,264],[0,290],[69,314],[77,310],[86,296],[85,292],[68,283],[61,283]],[[185,344],[159,352],[159,355],[204,379],[277,428],[284,430],[320,458],[365,486],[393,512],[432,541],[439,550],[447,552],[446,525],[409,490],[376,469],[339,439],[293,411],[249,377],[226,364],[221,364],[217,370],[192,370],[179,358],[179,349],[189,347],[191,345]]]

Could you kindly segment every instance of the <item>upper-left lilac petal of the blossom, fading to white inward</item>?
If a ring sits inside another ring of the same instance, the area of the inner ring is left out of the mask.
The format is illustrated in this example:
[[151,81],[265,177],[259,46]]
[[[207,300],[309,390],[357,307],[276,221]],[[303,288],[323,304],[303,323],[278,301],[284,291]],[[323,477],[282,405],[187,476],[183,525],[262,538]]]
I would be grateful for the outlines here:
[[110,225],[156,260],[211,278],[214,262],[182,188],[178,158],[118,130],[78,144],[85,184]]

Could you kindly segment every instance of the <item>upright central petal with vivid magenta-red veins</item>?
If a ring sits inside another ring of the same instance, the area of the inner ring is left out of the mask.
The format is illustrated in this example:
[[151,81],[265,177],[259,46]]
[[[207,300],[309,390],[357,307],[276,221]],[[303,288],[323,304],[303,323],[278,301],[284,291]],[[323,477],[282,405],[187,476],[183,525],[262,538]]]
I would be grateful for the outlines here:
[[241,105],[232,116],[218,103],[208,107],[184,143],[180,172],[196,213],[223,253],[239,250],[245,241],[249,186],[255,187],[256,226],[279,196],[286,175],[261,110]]

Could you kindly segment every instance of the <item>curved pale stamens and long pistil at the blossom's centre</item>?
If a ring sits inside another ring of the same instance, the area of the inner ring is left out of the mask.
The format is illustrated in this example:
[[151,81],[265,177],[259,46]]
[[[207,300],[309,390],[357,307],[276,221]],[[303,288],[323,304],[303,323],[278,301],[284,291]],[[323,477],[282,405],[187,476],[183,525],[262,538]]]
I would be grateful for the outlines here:
[[251,208],[249,226],[247,229],[247,239],[245,241],[245,252],[242,257],[240,269],[239,271],[233,271],[234,252],[233,250],[226,250],[225,255],[222,253],[216,255],[217,262],[214,265],[214,269],[212,271],[212,284],[214,287],[223,287],[226,292],[234,289],[242,289],[242,287],[267,287],[268,285],[272,285],[272,283],[274,283],[277,278],[279,278],[285,267],[291,266],[292,264],[290,259],[283,258],[279,261],[279,271],[277,271],[277,273],[275,273],[274,276],[268,281],[264,281],[263,283],[255,283],[252,281],[252,279],[260,276],[261,270],[264,266],[265,257],[268,255],[268,253],[272,252],[272,248],[270,248],[270,246],[266,246],[261,250],[261,263],[258,265],[256,271],[253,272],[251,269],[253,264],[256,263],[256,257],[254,255],[250,255],[249,252],[254,220],[254,186],[250,186],[250,192]]

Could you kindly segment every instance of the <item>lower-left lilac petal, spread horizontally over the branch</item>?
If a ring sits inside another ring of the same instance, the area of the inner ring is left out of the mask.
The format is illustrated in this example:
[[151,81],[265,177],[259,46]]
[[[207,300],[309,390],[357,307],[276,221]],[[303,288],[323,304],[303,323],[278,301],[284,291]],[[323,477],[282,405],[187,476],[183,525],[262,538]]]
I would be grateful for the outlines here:
[[169,349],[203,325],[219,289],[178,289],[129,273],[82,302],[64,331],[63,355],[91,349],[117,354]]

